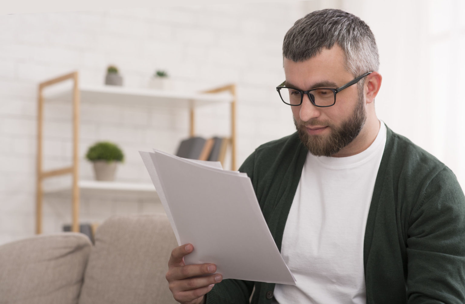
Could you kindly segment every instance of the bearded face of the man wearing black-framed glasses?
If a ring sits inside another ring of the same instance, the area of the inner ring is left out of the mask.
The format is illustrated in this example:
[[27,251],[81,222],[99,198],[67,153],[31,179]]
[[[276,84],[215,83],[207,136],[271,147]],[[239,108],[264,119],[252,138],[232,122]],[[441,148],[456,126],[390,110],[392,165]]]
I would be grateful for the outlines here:
[[[339,46],[324,49],[304,62],[284,59],[286,83],[301,90],[336,88],[354,76],[344,69],[344,52]],[[359,135],[366,120],[364,90],[357,85],[337,93],[336,104],[314,106],[304,95],[300,106],[291,106],[300,140],[316,156],[337,156]]]

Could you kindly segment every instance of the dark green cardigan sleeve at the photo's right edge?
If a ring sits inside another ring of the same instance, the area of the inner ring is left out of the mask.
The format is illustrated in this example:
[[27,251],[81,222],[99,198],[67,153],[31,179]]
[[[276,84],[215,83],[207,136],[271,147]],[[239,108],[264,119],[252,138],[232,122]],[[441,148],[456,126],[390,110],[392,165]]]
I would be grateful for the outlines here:
[[410,214],[406,251],[409,304],[465,303],[465,198],[447,167]]

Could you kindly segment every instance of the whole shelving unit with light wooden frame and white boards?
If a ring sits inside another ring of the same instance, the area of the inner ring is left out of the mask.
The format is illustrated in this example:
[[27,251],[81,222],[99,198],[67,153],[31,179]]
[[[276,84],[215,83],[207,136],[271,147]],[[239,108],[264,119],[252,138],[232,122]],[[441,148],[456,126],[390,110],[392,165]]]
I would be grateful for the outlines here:
[[[64,81],[72,80],[73,89],[70,94],[66,92],[46,94],[46,88],[53,87]],[[43,159],[43,109],[44,103],[48,99],[66,100],[70,98],[73,103],[73,158],[72,165],[65,168],[59,168],[44,171],[42,168]],[[236,86],[228,85],[214,88],[201,93],[186,93],[176,91],[164,91],[154,89],[126,88],[121,86],[81,86],[79,82],[79,73],[77,71],[62,75],[60,77],[44,81],[39,84],[38,92],[38,116],[37,116],[37,182],[36,182],[36,233],[42,232],[42,204],[44,187],[43,181],[60,175],[72,175],[72,231],[79,231],[79,201],[80,189],[93,191],[126,191],[126,192],[150,192],[152,188],[147,184],[129,184],[119,182],[96,182],[79,180],[79,130],[80,130],[80,100],[99,100],[105,102],[111,99],[112,103],[127,102],[131,103],[148,103],[151,106],[169,106],[188,108],[189,113],[189,136],[195,136],[195,108],[213,103],[230,103],[231,108],[231,137],[229,138],[231,146],[231,169],[236,170]],[[68,187],[69,191],[69,187]]]

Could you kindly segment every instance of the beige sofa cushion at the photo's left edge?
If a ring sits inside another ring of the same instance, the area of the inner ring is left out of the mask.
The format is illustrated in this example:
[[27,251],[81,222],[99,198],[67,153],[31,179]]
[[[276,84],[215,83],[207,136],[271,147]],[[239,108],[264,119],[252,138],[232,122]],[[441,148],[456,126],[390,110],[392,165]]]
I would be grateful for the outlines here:
[[1,245],[0,304],[77,304],[91,248],[74,232]]

